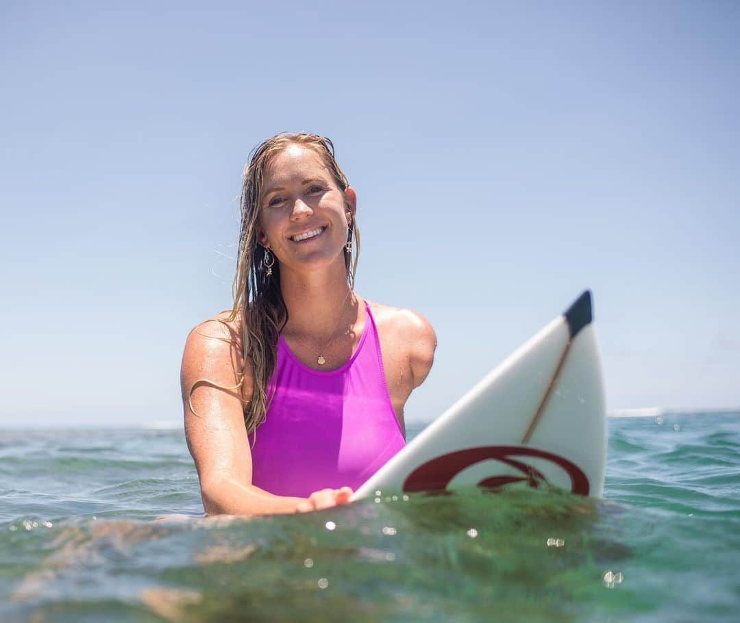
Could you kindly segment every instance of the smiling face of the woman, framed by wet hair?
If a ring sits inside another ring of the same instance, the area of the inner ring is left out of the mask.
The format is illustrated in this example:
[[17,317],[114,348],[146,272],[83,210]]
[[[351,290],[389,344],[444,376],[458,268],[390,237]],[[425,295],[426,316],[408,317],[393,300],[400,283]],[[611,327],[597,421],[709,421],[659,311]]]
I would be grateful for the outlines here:
[[275,253],[280,270],[344,267],[355,204],[354,190],[340,190],[317,152],[289,145],[264,172],[258,242]]

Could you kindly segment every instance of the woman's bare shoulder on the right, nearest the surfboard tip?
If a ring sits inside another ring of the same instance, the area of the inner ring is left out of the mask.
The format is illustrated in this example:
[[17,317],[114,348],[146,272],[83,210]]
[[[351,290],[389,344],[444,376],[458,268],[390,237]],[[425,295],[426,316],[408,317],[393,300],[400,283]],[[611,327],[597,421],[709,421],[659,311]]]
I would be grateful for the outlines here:
[[377,324],[380,339],[385,344],[401,347],[408,357],[408,365],[417,387],[428,375],[434,363],[437,334],[431,322],[420,313],[405,307],[392,307],[368,301]]

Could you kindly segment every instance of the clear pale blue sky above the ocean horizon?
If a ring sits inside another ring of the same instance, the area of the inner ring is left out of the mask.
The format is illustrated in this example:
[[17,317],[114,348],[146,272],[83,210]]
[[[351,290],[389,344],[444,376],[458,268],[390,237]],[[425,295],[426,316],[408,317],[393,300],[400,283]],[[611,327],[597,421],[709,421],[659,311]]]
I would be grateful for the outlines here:
[[0,427],[181,420],[240,177],[331,137],[429,421],[593,291],[609,409],[740,406],[740,4],[0,7]]

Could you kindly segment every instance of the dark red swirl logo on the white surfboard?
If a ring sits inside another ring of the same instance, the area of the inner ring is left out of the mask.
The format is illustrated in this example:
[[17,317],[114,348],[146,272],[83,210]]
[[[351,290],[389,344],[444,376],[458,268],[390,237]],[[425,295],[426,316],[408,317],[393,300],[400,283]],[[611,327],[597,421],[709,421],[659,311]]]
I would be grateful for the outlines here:
[[520,457],[534,457],[554,463],[568,474],[571,479],[571,491],[588,495],[590,486],[588,477],[582,469],[568,459],[528,446],[481,446],[449,452],[436,457],[414,469],[403,483],[403,491],[440,491],[447,488],[450,481],[463,469],[487,460],[497,460],[517,469],[522,475],[491,475],[478,483],[479,487],[497,488],[509,483],[526,482],[537,488],[547,483],[545,474],[534,466],[521,460]]

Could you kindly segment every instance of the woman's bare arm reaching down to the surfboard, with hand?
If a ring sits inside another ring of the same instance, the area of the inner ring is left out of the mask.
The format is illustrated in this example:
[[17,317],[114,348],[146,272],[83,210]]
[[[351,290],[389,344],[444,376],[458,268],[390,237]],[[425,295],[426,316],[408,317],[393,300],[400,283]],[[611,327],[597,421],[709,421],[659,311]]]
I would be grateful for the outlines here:
[[252,395],[252,368],[243,366],[238,333],[225,319],[222,314],[223,321],[206,321],[192,330],[181,368],[185,435],[206,513],[295,513],[345,503],[349,488],[324,489],[302,498],[273,495],[252,485],[252,452],[243,417],[243,400]]

